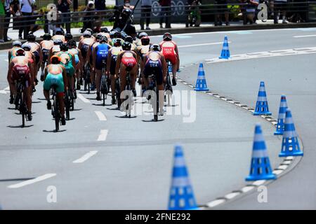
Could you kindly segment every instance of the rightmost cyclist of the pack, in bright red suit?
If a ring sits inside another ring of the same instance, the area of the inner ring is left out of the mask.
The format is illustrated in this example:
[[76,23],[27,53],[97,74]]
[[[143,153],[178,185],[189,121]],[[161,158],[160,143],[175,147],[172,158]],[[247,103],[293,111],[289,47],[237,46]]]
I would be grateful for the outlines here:
[[162,54],[166,60],[169,60],[172,64],[172,85],[177,85],[176,83],[176,73],[180,66],[179,52],[176,42],[172,41],[172,36],[170,33],[165,33],[162,36],[163,41],[159,43],[160,48],[162,48]]

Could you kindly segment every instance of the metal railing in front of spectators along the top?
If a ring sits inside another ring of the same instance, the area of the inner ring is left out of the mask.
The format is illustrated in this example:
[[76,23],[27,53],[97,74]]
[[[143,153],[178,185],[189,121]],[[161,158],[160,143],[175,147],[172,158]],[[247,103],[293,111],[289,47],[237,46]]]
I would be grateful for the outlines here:
[[[275,8],[278,3],[267,3],[268,16],[275,13]],[[196,8],[194,8],[196,7]],[[133,21],[138,22],[140,18],[151,18],[152,21],[159,21],[160,18],[169,18],[170,22],[185,22],[187,15],[193,12],[197,12],[202,18],[202,22],[213,22],[216,19],[216,15],[223,15],[227,12],[230,15],[230,20],[242,20],[241,14],[248,12],[249,8],[253,8],[249,3],[228,3],[228,4],[204,4],[199,6],[167,6],[152,8],[150,16],[147,16],[143,9],[136,8],[133,13]],[[164,15],[161,13],[164,11]],[[316,1],[302,1],[302,2],[289,2],[287,3],[287,15],[298,14],[304,20],[303,22],[316,21]],[[256,9],[256,13],[258,9]],[[29,15],[11,18],[10,22],[6,19],[6,22],[0,22],[0,27],[8,25],[8,29],[19,29],[21,27],[29,27],[32,25],[61,25],[70,24],[74,22],[105,22],[109,21],[114,15],[115,10],[91,10],[71,13],[58,13],[56,20],[50,20],[47,18],[47,13],[41,15]],[[256,14],[255,13],[255,14]]]

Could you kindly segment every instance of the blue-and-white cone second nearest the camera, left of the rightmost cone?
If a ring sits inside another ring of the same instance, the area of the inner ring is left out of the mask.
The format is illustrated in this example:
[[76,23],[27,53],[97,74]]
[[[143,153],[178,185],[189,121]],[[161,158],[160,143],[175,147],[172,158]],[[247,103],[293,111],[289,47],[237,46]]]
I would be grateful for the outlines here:
[[246,177],[246,181],[271,179],[277,179],[277,176],[272,173],[261,125],[257,124],[254,134],[254,146],[252,151],[250,174]]

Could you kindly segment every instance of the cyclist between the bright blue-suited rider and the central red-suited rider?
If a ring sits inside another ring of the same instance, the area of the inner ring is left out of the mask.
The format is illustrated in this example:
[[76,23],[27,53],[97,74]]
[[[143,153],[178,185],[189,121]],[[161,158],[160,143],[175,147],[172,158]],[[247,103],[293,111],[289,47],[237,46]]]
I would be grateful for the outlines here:
[[109,50],[109,55],[107,55],[107,73],[111,75],[111,91],[112,91],[112,104],[116,104],[115,101],[115,80],[118,78],[115,74],[115,66],[117,66],[117,55],[121,52],[121,41],[117,40],[113,43],[113,47]]

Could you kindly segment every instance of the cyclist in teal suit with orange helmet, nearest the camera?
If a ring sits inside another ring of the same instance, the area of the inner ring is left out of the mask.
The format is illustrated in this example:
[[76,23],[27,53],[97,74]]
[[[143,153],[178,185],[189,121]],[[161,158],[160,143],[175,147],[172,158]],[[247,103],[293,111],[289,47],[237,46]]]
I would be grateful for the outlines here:
[[47,109],[51,110],[51,100],[49,99],[49,90],[52,85],[57,85],[56,94],[59,102],[59,110],[61,115],[62,125],[66,125],[65,119],[65,104],[64,94],[67,91],[67,71],[64,66],[60,64],[60,58],[53,55],[51,57],[51,64],[46,66],[44,71],[44,85],[43,92],[47,100]]

